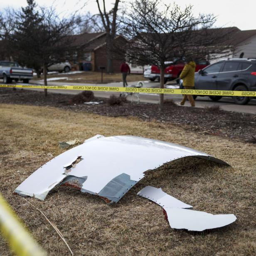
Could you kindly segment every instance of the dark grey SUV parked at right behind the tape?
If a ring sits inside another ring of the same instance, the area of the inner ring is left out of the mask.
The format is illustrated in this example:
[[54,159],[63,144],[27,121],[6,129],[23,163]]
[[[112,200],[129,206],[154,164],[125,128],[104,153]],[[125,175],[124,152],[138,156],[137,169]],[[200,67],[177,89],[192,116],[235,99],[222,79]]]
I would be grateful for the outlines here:
[[[256,91],[256,59],[229,58],[209,65],[195,73],[194,86],[199,90]],[[209,98],[219,101],[222,96]],[[236,104],[244,105],[253,97],[232,98]]]

